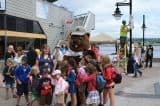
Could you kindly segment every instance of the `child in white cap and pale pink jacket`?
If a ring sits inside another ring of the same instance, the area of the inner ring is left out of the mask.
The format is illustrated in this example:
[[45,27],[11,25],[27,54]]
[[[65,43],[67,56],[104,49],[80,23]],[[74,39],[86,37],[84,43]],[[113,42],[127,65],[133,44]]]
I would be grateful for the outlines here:
[[55,70],[52,73],[53,77],[55,78],[55,95],[56,95],[56,106],[65,106],[65,93],[68,91],[68,83],[61,77],[61,71]]

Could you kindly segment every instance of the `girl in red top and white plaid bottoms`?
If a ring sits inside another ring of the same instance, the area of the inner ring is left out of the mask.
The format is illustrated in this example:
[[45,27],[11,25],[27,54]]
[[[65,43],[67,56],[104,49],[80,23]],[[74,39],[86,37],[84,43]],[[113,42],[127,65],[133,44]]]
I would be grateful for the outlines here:
[[88,71],[88,76],[86,76],[83,80],[83,82],[87,82],[88,95],[86,104],[88,106],[97,106],[100,103],[99,92],[96,89],[97,69],[91,63],[87,64],[86,69]]

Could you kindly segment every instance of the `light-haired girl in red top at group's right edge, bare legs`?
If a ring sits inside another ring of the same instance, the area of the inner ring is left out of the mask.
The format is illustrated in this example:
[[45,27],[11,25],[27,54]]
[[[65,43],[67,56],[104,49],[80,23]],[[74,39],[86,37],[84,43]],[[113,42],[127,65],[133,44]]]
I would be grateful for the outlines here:
[[107,81],[106,87],[103,92],[103,99],[104,99],[103,104],[106,104],[107,98],[109,97],[110,106],[115,106],[115,94],[114,94],[115,83],[112,79],[113,70],[109,56],[104,56],[102,58],[102,69],[103,69],[104,79]]

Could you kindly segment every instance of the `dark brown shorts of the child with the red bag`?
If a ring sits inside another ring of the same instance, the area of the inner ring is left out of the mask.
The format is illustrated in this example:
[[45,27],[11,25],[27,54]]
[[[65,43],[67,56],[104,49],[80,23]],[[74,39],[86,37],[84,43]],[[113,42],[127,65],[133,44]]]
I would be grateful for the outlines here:
[[52,95],[41,95],[40,96],[40,105],[51,105],[52,103]]

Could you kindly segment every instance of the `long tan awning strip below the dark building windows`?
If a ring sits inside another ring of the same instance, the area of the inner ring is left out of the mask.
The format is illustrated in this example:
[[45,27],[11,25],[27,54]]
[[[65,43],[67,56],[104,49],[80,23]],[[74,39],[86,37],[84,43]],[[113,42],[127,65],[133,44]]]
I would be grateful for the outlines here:
[[8,31],[8,30],[7,31],[0,30],[0,36],[47,39],[47,36],[45,34],[16,32],[16,31]]

